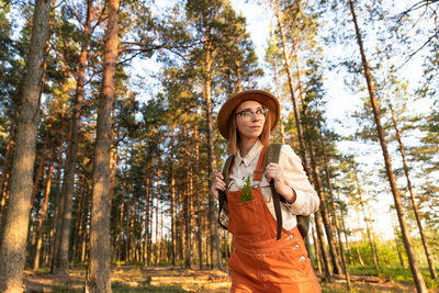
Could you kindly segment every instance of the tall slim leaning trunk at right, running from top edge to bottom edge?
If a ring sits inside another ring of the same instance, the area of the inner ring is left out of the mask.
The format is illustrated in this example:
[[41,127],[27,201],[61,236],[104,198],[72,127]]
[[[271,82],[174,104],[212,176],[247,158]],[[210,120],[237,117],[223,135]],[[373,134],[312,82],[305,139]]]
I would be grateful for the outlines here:
[[393,172],[392,162],[391,162],[391,158],[390,158],[389,150],[387,150],[387,143],[385,140],[384,129],[383,129],[383,127],[381,125],[380,109],[379,109],[378,103],[376,103],[375,92],[374,92],[374,88],[373,88],[373,84],[372,84],[372,75],[370,72],[368,60],[365,58],[365,53],[364,53],[364,48],[363,48],[363,42],[361,40],[360,29],[359,29],[358,23],[357,23],[357,15],[356,15],[356,10],[353,8],[352,0],[349,0],[349,5],[350,5],[350,12],[352,14],[352,21],[353,21],[353,24],[354,24],[354,27],[356,27],[357,41],[358,41],[358,45],[359,45],[359,48],[360,48],[362,66],[363,66],[363,69],[364,69],[364,78],[365,78],[365,81],[368,83],[369,97],[370,97],[371,104],[372,104],[373,116],[375,119],[376,131],[378,131],[378,134],[379,134],[381,148],[382,148],[382,151],[383,151],[385,170],[386,170],[386,173],[387,173],[389,183],[391,185],[392,194],[393,194],[393,198],[394,198],[394,201],[395,201],[395,207],[396,207],[396,212],[397,212],[397,216],[398,216],[398,221],[399,221],[401,233],[403,235],[404,246],[405,246],[405,249],[406,249],[406,252],[407,252],[408,262],[410,264],[412,275],[413,275],[413,279],[415,281],[415,285],[416,285],[417,291],[418,292],[423,292],[423,293],[424,292],[428,292],[427,291],[427,286],[426,286],[426,284],[424,282],[423,274],[420,273],[419,267],[418,267],[417,261],[416,261],[415,249],[413,248],[410,234],[408,232],[407,223],[406,223],[406,219],[405,219],[405,216],[404,216],[403,205],[401,203],[401,195],[399,195],[399,191],[398,191],[398,189],[396,187],[396,178],[395,178],[395,173]]

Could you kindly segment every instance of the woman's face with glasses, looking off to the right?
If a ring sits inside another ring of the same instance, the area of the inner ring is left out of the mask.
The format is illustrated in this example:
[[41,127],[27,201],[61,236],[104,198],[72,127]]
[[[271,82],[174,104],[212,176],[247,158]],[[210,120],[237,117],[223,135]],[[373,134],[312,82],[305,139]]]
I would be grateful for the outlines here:
[[255,139],[261,135],[266,123],[263,111],[257,101],[244,101],[236,108],[236,127],[241,139]]

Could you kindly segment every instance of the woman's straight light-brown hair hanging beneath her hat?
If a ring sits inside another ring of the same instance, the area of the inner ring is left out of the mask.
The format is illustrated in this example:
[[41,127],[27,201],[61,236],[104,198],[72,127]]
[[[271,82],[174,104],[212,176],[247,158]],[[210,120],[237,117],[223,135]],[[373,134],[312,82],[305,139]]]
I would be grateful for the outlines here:
[[[228,139],[227,139],[227,154],[235,155],[237,154],[240,137],[238,127],[236,127],[236,109],[233,111],[232,115],[228,119]],[[268,113],[266,116],[266,122],[263,124],[263,129],[261,135],[259,136],[259,140],[262,143],[263,146],[268,146],[270,143],[270,125],[271,125],[271,114]]]

